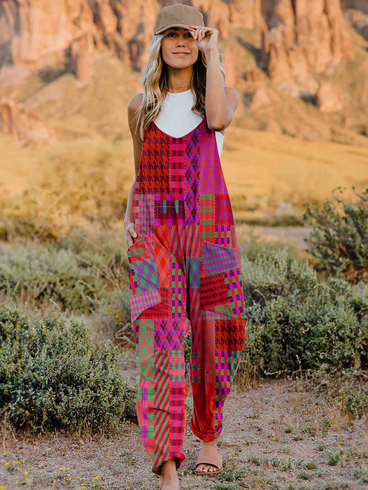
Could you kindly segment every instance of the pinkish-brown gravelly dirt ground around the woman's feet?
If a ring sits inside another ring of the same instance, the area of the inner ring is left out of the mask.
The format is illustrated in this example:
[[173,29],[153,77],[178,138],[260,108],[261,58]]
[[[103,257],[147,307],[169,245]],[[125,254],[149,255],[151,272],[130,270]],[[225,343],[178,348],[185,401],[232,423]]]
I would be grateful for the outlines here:
[[[123,355],[127,377],[134,381],[134,349]],[[193,473],[201,443],[187,420],[181,488],[363,490],[368,488],[367,429],[367,420],[350,421],[329,400],[317,399],[303,379],[265,380],[248,391],[235,385],[218,438],[222,475]],[[158,489],[134,423],[127,423],[120,435],[93,437],[49,433],[21,438],[3,429],[1,440],[4,490],[21,485],[34,490]]]

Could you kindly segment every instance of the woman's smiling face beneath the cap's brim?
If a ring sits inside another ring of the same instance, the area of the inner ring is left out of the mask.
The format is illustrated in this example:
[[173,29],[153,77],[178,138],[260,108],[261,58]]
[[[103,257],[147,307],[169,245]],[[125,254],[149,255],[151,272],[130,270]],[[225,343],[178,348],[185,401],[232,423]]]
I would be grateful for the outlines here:
[[183,27],[167,29],[161,46],[165,63],[173,68],[187,68],[197,61],[198,46],[188,29]]

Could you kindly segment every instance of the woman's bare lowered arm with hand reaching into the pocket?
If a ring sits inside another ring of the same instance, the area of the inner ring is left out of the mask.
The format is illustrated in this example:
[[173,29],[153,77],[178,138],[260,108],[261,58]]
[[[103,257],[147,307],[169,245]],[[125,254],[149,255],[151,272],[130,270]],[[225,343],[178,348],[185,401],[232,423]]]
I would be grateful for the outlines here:
[[137,233],[134,229],[133,190],[134,190],[134,185],[138,174],[139,166],[141,163],[143,141],[141,139],[139,131],[137,131],[136,121],[134,116],[135,116],[135,111],[141,105],[142,97],[143,97],[143,93],[139,93],[134,97],[132,97],[132,99],[130,99],[130,101],[128,102],[128,125],[133,140],[135,179],[130,187],[128,204],[124,217],[124,229],[125,229],[127,247],[130,247],[134,243],[133,238],[137,237]]

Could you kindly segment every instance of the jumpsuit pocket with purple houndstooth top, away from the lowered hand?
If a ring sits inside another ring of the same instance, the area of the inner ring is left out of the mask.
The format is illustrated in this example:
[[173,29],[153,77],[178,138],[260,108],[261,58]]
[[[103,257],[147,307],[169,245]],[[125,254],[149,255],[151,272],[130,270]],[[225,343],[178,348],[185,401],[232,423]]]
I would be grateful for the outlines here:
[[200,309],[232,318],[244,311],[240,249],[201,243]]

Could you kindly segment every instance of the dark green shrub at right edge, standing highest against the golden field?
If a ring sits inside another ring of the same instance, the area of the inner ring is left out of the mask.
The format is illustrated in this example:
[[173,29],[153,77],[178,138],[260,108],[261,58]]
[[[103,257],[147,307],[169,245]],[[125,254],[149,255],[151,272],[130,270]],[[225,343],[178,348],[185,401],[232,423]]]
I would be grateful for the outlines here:
[[[341,187],[337,189],[342,193]],[[357,195],[357,204],[338,197],[327,200],[322,208],[307,202],[303,215],[304,221],[313,225],[306,239],[312,248],[307,251],[318,259],[318,268],[342,273],[352,282],[368,279],[368,188]],[[340,212],[336,203],[342,208]]]

